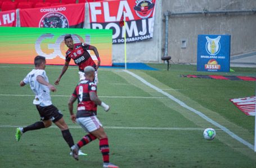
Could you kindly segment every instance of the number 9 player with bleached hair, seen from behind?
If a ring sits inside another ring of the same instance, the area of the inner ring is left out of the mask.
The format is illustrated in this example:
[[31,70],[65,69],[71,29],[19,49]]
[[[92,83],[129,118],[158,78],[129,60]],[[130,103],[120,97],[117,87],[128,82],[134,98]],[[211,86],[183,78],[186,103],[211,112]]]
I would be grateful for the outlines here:
[[[77,144],[71,147],[73,157],[78,160],[79,148],[89,142],[99,139],[100,150],[103,156],[103,167],[118,168],[109,162],[109,142],[102,124],[97,118],[97,105],[102,106],[105,111],[109,111],[110,106],[106,105],[97,96],[97,84],[93,82],[95,78],[95,69],[91,66],[84,68],[86,80],[80,81],[75,87],[75,91],[69,100],[70,118],[77,122],[88,134],[84,136]],[[73,104],[78,99],[77,115],[73,113]]]

